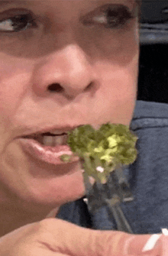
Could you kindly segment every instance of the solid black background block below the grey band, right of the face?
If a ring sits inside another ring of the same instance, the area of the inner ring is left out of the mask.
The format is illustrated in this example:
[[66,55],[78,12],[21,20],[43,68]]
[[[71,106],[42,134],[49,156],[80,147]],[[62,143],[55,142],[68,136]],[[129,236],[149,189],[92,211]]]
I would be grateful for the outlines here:
[[137,100],[168,103],[168,44],[141,46]]

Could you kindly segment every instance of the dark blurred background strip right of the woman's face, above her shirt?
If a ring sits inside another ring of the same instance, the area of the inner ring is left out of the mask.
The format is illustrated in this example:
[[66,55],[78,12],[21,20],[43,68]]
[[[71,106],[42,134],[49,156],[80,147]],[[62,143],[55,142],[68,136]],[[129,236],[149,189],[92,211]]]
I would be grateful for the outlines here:
[[142,0],[137,100],[168,103],[168,1]]

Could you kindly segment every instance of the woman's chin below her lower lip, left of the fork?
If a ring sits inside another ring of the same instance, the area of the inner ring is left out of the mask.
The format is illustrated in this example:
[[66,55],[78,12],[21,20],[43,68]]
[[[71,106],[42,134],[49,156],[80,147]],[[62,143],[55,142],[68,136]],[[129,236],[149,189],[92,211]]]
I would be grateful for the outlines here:
[[69,175],[32,180],[32,182],[29,193],[24,195],[24,200],[38,206],[54,208],[76,201],[86,194],[81,170],[76,170]]

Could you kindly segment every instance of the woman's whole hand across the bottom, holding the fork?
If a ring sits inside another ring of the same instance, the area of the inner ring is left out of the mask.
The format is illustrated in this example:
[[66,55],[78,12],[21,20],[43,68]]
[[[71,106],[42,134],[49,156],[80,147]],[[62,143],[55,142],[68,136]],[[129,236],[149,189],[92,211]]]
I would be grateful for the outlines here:
[[[0,238],[0,255],[131,256],[141,254],[150,236],[92,230],[50,218],[24,225]],[[150,255],[167,256],[168,237],[162,235],[157,244]]]

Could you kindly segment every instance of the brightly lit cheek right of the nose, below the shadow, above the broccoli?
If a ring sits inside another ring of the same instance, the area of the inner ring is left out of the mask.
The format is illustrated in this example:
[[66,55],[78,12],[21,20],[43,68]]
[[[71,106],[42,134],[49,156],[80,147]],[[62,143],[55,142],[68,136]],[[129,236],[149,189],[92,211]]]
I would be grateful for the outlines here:
[[138,56],[128,66],[104,66],[94,112],[99,122],[130,125],[137,97]]

